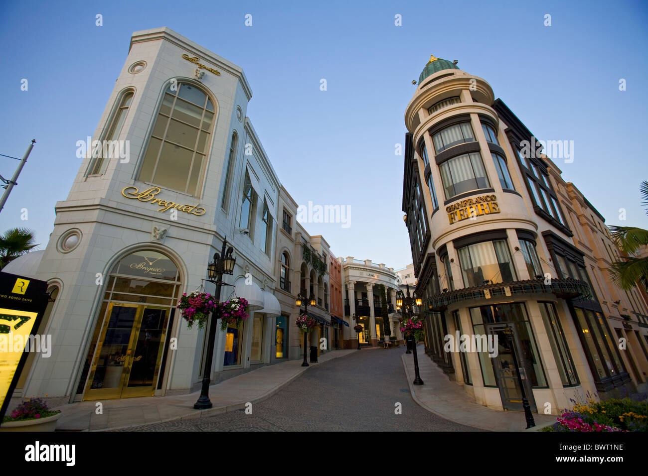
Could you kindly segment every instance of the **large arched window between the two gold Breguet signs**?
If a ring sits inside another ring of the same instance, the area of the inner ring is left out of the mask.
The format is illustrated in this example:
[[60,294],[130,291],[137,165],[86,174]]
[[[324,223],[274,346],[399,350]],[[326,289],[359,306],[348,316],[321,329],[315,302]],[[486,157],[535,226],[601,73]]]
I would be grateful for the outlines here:
[[213,128],[214,105],[209,96],[192,84],[170,84],[157,113],[139,180],[200,195]]

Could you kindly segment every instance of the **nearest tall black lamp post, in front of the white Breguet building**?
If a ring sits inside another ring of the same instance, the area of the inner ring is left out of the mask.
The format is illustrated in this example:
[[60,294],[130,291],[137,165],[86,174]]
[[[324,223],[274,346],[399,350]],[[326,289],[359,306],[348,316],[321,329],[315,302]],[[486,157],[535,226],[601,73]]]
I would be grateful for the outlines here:
[[[205,281],[213,282],[216,284],[216,294],[214,298],[216,303],[220,302],[220,288],[221,286],[234,286],[233,284],[227,284],[223,282],[223,275],[231,275],[234,272],[234,265],[237,261],[237,258],[232,256],[234,253],[234,248],[229,247],[226,251],[227,240],[223,240],[223,247],[218,253],[214,253],[213,262],[209,263],[207,266],[207,275],[209,279]],[[212,404],[209,400],[209,382],[211,381],[211,360],[214,356],[214,341],[216,341],[216,323],[218,322],[218,315],[214,316],[213,313],[210,315],[209,319],[209,340],[207,341],[207,361],[205,361],[205,374],[202,381],[202,389],[200,391],[200,397],[194,403],[194,408],[196,410],[204,410],[211,408]]]

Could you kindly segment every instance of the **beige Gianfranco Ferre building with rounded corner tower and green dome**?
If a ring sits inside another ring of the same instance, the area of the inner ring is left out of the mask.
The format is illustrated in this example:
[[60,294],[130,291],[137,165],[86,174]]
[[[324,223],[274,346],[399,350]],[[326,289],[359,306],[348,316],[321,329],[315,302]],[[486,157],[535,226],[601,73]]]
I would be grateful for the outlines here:
[[494,409],[633,391],[533,134],[483,78],[434,56],[405,124],[402,209],[433,361]]

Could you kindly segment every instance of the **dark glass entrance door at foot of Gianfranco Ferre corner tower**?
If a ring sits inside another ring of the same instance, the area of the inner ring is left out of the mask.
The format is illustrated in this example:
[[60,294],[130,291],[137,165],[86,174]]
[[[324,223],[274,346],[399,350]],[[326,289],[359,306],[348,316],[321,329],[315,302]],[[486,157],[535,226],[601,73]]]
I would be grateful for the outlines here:
[[[522,391],[518,372],[522,376],[524,392],[531,406],[531,411],[537,411],[531,383],[524,368],[524,362],[520,359],[520,347],[518,344],[518,333],[515,330],[515,323],[486,324],[486,334],[497,335],[497,356],[493,357],[495,376],[500,388],[502,406],[505,410],[524,411],[522,405]],[[513,331],[512,335],[511,330]],[[515,357],[515,358],[514,358]],[[517,365],[516,365],[517,362]]]

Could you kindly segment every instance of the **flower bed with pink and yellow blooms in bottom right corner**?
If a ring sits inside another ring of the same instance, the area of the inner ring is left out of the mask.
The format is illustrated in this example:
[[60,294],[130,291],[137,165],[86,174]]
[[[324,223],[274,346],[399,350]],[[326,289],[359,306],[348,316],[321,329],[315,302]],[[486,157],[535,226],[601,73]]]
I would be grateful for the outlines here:
[[563,411],[555,424],[542,431],[648,431],[648,401],[572,402],[572,410]]

